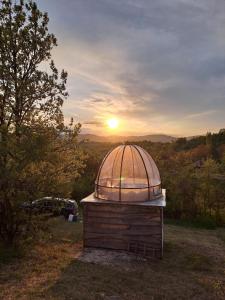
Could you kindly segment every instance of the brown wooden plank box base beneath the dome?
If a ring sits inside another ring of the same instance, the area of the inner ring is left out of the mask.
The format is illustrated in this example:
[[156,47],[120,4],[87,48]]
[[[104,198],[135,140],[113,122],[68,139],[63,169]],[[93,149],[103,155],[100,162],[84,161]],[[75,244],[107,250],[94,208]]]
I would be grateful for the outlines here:
[[163,208],[84,203],[84,247],[162,257]]

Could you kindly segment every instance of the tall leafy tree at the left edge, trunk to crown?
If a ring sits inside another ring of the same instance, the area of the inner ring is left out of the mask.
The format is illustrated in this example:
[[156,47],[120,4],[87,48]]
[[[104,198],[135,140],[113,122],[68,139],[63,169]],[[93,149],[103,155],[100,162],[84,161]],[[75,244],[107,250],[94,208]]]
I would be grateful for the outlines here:
[[67,73],[51,60],[47,13],[34,1],[0,5],[0,237],[12,244],[31,226],[21,202],[68,195],[83,161],[80,125],[63,122]]

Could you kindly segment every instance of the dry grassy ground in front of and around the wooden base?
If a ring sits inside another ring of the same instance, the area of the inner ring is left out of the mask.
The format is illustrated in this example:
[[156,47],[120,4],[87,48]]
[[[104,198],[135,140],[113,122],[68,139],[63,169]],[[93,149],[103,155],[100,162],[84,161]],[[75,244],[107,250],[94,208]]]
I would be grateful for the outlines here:
[[[225,299],[225,230],[165,225],[162,260],[83,259],[82,223],[61,218],[28,253],[0,263],[0,299]],[[87,257],[87,255],[86,255]]]

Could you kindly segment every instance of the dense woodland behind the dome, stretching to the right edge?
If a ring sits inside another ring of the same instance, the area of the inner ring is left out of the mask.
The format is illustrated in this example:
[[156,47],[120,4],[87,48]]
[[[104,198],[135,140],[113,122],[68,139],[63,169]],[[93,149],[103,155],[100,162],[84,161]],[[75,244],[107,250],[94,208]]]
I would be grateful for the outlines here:
[[[172,143],[137,142],[157,163],[167,190],[166,217],[225,224],[225,130]],[[84,143],[88,155],[83,175],[74,183],[81,199],[94,190],[101,160],[117,144]]]

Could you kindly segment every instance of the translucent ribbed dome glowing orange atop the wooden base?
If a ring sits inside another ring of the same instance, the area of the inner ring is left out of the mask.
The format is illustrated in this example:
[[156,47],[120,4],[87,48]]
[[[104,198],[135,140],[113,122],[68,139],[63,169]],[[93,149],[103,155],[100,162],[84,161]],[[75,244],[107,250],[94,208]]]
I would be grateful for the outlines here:
[[152,157],[136,145],[109,151],[95,181],[95,197],[121,202],[144,202],[162,195],[159,170]]

